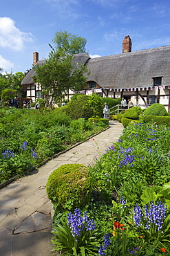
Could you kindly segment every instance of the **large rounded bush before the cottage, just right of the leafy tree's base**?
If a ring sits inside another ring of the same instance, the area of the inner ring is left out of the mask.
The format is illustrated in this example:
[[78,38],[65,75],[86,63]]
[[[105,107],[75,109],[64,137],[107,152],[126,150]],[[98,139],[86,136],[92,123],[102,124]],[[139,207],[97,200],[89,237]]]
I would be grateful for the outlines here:
[[71,100],[67,104],[66,112],[72,119],[85,118],[86,120],[93,115],[93,111],[90,107],[87,107],[89,100],[88,95],[77,95],[76,99]]

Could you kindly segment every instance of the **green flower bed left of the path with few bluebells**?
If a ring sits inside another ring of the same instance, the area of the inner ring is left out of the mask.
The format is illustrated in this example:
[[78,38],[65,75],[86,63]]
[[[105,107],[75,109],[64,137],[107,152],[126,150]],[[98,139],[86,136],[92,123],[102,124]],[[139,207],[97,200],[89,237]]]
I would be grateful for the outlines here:
[[104,128],[56,110],[0,109],[0,184]]

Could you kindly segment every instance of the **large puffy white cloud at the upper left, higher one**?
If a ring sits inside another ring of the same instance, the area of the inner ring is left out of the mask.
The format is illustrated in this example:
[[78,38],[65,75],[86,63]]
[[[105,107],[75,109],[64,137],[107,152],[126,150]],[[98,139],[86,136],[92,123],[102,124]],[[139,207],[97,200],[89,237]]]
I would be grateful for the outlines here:
[[24,42],[32,42],[31,33],[25,33],[14,26],[14,21],[9,17],[0,17],[0,46],[21,51]]

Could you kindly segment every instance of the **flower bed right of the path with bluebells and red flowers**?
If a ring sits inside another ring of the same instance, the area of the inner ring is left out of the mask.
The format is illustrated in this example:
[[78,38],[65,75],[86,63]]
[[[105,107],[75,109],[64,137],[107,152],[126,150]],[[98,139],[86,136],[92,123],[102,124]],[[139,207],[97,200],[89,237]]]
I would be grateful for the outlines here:
[[[89,168],[91,201],[71,213],[60,212],[54,203],[54,250],[62,255],[170,255],[169,157],[167,127],[124,129]],[[87,230],[88,223],[92,229]]]

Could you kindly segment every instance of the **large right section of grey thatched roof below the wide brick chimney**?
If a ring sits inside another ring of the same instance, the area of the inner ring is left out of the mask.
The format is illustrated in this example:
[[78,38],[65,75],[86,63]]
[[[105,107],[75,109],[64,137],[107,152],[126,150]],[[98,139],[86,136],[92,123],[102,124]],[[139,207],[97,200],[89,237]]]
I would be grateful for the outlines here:
[[163,77],[162,85],[170,85],[170,46],[94,58],[87,67],[87,80],[102,88],[149,87],[152,77]]

